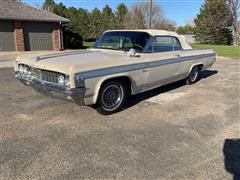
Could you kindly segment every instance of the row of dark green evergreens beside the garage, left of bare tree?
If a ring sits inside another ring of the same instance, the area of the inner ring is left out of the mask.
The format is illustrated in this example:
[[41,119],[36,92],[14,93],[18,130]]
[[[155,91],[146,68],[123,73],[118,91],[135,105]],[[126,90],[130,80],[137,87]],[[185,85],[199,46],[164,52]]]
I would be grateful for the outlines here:
[[57,4],[54,0],[45,0],[43,7],[70,20],[69,23],[62,24],[65,48],[80,48],[82,40],[96,40],[106,30],[124,29],[128,12],[123,3],[118,5],[115,13],[108,5],[102,12],[98,8],[88,12],[82,8],[67,8],[63,3]]

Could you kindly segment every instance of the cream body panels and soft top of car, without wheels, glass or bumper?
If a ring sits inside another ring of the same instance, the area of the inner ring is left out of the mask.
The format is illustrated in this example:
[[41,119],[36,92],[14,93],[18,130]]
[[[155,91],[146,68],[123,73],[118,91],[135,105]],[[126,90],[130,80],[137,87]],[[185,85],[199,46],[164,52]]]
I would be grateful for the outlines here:
[[[121,30],[122,31],[122,30]],[[202,70],[212,66],[215,53],[211,49],[193,50],[176,33],[161,30],[133,30],[147,32],[151,36],[173,36],[178,38],[181,51],[160,53],[137,53],[129,57],[126,52],[105,49],[88,49],[29,57],[19,56],[14,63],[15,72],[19,64],[69,75],[70,88],[76,87],[76,75],[85,82],[84,104],[97,102],[102,83],[117,77],[128,77],[131,94],[186,78],[192,67],[202,65]]]

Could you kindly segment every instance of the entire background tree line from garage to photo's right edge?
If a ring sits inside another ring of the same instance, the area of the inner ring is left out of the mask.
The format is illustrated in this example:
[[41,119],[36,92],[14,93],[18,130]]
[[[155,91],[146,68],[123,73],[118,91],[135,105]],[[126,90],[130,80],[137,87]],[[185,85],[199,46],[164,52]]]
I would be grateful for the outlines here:
[[[194,34],[196,41],[204,44],[237,45],[239,6],[239,0],[205,0],[193,23],[176,28],[175,22],[167,19],[161,6],[153,1],[151,28]],[[63,24],[65,48],[79,48],[82,41],[95,41],[106,30],[147,29],[150,20],[148,0],[139,1],[129,9],[120,3],[115,11],[108,5],[102,10],[88,11],[45,0],[43,9],[70,20]]]

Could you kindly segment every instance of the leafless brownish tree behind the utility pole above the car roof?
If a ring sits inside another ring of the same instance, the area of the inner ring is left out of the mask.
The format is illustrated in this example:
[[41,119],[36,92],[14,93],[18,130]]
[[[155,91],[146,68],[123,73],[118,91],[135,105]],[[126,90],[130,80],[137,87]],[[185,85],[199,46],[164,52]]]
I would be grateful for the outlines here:
[[[149,3],[148,0],[142,0],[141,2],[132,5],[126,19],[126,27],[128,29],[147,29],[150,21],[149,15]],[[152,4],[152,19],[151,28],[174,30],[175,23],[164,17],[163,9],[160,5],[153,1]]]

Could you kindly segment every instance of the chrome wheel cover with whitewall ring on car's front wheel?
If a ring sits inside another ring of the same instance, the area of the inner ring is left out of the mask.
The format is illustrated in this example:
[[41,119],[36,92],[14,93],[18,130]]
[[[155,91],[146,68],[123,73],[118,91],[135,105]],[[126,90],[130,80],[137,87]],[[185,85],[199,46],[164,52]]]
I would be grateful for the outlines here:
[[114,111],[123,101],[123,88],[116,84],[105,87],[101,94],[102,108],[106,111]]

